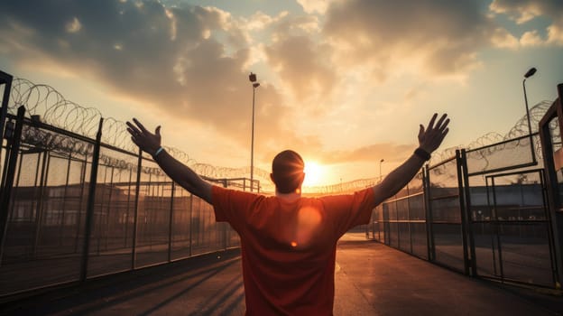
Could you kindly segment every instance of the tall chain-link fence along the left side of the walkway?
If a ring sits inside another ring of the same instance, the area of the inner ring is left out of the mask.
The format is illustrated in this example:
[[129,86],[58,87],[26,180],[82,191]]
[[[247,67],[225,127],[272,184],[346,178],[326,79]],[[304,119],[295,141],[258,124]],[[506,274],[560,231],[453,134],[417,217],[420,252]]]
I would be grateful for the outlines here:
[[[7,218],[0,296],[239,246],[208,203],[178,187],[147,155],[23,115],[8,121],[14,136],[2,152],[10,192],[1,205]],[[235,189],[249,184],[208,181]]]

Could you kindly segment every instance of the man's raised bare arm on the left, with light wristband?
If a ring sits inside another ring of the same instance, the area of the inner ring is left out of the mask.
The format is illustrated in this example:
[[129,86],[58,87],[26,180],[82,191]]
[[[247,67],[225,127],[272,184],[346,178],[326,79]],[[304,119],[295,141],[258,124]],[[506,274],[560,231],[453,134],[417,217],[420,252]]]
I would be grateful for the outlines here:
[[[160,150],[161,147],[161,126],[156,127],[154,134],[144,128],[136,119],[134,124],[127,122],[127,132],[131,134],[131,140],[139,146],[143,152],[150,153],[156,163],[169,177],[190,193],[211,203],[211,184],[201,179],[196,172],[187,165],[180,163],[169,153]],[[158,154],[157,151],[160,152]]]

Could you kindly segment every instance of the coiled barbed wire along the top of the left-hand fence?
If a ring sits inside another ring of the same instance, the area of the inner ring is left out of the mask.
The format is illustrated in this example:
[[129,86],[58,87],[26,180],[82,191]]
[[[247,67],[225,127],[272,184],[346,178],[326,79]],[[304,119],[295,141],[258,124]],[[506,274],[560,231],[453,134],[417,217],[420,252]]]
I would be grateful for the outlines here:
[[[34,84],[27,79],[15,78],[12,82],[10,95],[11,103],[8,112],[14,114],[17,108],[24,106],[28,116],[39,116],[42,123],[52,125],[74,134],[88,138],[96,138],[97,129],[102,113],[95,107],[82,107],[69,101],[57,89],[45,84]],[[69,136],[51,133],[38,128],[26,128],[23,139],[28,144],[52,151],[61,151],[68,154],[91,154],[84,142]],[[102,125],[102,143],[115,146],[130,153],[137,152],[137,146],[131,141],[125,122],[113,117],[104,117]],[[166,146],[166,150],[182,163],[188,164],[195,172],[210,178],[236,178],[250,174],[250,167],[226,168],[217,167],[208,163],[198,163],[189,157],[188,153],[180,149]],[[106,154],[100,155],[103,163],[114,163],[123,168],[136,168],[131,163],[116,163]],[[117,166],[116,165],[116,166]],[[146,172],[158,173],[152,168]],[[269,172],[254,167],[257,180],[269,181]]]

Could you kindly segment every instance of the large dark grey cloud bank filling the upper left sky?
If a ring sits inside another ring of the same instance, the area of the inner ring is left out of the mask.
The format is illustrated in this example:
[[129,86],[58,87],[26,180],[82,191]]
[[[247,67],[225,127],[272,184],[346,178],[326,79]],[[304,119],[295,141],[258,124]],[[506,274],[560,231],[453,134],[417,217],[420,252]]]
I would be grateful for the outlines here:
[[[213,8],[167,8],[148,0],[2,2],[0,45],[21,64],[50,60],[117,94],[246,142],[249,52],[244,31],[229,19]],[[226,43],[219,42],[225,34]],[[280,122],[288,112],[272,85],[259,93],[260,115],[268,122],[261,123],[260,137],[267,140],[284,132]]]

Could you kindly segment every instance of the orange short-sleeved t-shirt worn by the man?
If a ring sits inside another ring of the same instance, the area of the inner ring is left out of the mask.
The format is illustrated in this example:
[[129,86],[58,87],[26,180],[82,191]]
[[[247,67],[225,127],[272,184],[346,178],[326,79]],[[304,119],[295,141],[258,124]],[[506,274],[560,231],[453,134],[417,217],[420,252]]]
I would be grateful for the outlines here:
[[371,188],[287,201],[214,186],[212,200],[241,237],[247,315],[332,315],[337,240],[369,222]]

